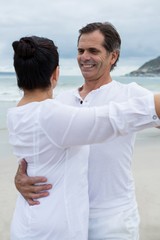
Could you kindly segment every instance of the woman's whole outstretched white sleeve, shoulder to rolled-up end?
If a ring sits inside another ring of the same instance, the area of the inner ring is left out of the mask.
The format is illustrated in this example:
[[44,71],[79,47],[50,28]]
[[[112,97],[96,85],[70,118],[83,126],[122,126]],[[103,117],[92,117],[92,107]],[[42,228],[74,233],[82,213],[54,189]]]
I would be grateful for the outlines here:
[[41,111],[40,124],[48,138],[59,147],[86,145],[120,135],[160,126],[153,94],[124,103],[75,108],[49,104]]

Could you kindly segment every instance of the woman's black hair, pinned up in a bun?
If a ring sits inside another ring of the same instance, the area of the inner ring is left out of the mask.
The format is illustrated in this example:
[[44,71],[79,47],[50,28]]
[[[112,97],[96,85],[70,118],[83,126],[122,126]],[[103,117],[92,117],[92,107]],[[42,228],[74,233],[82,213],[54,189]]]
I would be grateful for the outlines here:
[[26,90],[50,87],[50,77],[59,65],[59,54],[54,42],[31,36],[13,42],[12,47],[18,87]]

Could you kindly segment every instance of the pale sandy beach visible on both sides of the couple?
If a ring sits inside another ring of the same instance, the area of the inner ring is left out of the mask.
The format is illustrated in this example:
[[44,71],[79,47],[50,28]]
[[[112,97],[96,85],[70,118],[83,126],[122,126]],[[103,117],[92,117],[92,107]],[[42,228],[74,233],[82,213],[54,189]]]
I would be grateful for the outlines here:
[[[9,240],[9,227],[17,192],[15,157],[6,130],[0,130],[0,239]],[[160,130],[138,133],[133,172],[141,216],[140,240],[160,240]]]

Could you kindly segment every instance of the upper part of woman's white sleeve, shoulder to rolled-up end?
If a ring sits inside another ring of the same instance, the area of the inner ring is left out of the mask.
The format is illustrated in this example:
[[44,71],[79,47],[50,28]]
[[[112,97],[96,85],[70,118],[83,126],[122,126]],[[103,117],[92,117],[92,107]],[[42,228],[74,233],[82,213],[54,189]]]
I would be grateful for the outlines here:
[[116,134],[108,106],[76,108],[60,103],[40,109],[39,122],[50,141],[59,147],[99,143]]

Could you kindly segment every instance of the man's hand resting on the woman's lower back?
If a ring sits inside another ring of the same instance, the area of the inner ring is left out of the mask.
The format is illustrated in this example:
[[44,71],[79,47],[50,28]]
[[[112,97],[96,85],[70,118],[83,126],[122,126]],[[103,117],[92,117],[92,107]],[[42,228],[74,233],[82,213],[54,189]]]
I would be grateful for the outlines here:
[[28,177],[26,170],[27,163],[23,159],[15,176],[16,188],[26,199],[29,205],[38,205],[40,202],[37,199],[47,197],[49,195],[47,190],[51,189],[52,185],[44,184],[47,182],[45,177]]

